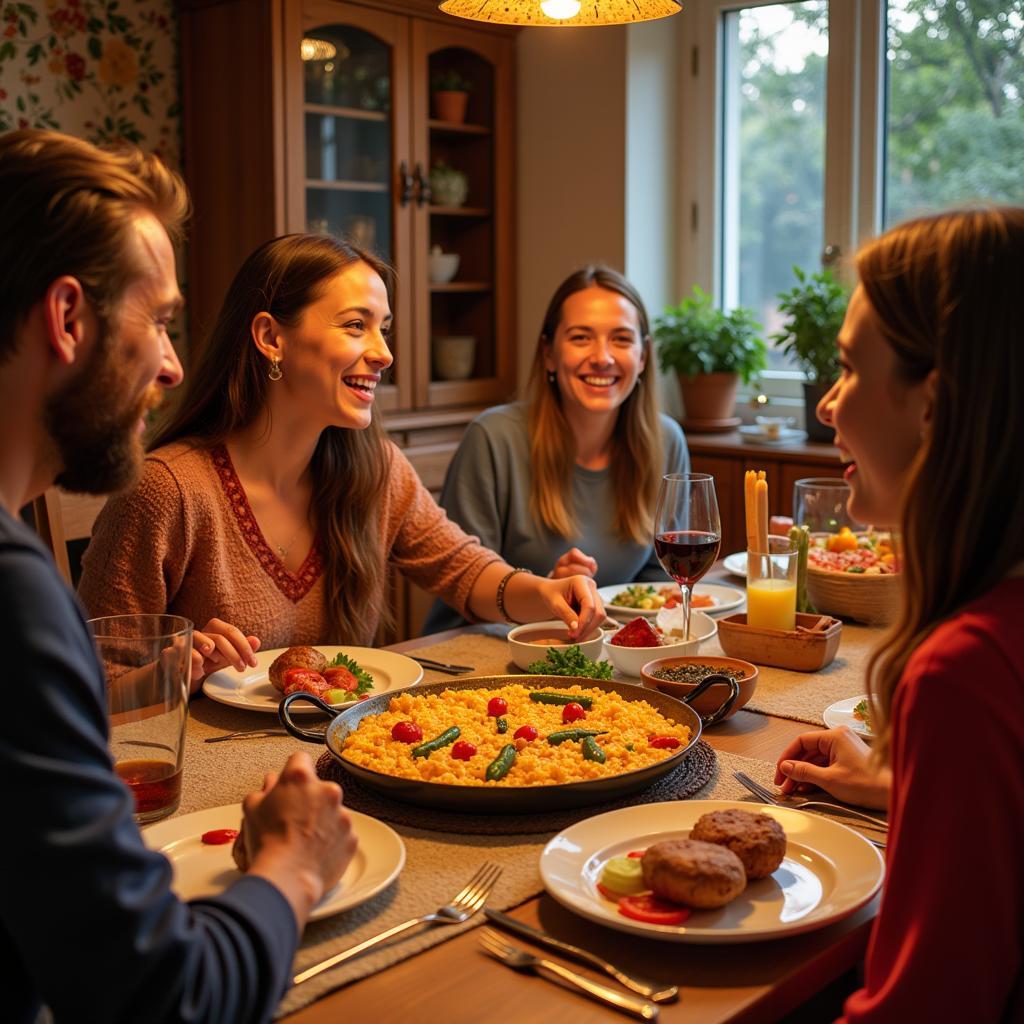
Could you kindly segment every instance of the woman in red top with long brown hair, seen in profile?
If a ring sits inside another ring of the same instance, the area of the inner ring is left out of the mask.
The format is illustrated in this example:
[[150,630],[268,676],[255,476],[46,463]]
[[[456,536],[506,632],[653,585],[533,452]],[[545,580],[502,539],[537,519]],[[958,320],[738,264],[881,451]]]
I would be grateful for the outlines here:
[[902,529],[902,606],[868,667],[873,751],[848,730],[807,733],[775,781],[889,808],[847,1021],[1021,1021],[1024,209],[910,221],[857,271],[818,418],[850,514]]

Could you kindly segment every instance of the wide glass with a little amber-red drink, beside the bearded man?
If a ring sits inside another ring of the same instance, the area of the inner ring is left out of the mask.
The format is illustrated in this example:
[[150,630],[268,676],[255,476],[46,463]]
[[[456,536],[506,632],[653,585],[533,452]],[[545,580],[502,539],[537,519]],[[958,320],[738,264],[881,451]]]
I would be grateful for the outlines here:
[[135,798],[135,820],[156,821],[181,799],[193,624],[131,614],[89,628],[106,674],[114,770]]

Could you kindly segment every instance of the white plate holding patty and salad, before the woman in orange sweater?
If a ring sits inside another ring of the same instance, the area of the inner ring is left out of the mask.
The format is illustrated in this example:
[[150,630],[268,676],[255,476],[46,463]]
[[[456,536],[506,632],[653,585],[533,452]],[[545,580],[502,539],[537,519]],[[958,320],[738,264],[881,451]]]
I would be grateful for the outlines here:
[[[244,672],[237,669],[221,669],[213,672],[203,681],[203,692],[212,700],[242,708],[244,711],[261,711],[275,715],[281,703],[281,692],[273,688],[267,672],[270,665],[287,647],[275,647],[272,650],[256,652],[256,668],[246,668]],[[370,695],[383,693],[386,690],[398,690],[403,686],[412,686],[423,678],[422,666],[404,654],[395,654],[391,650],[376,650],[373,647],[330,647],[317,644],[329,662],[339,652],[357,662],[359,668],[366,669],[374,677],[374,688]],[[310,705],[296,703],[292,708],[293,715],[319,714]]]

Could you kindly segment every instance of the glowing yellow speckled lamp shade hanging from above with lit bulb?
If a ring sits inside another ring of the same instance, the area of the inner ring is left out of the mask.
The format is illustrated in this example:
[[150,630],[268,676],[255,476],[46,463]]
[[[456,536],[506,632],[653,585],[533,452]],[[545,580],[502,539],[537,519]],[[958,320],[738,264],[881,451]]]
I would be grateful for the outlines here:
[[557,28],[653,22],[680,7],[676,0],[444,0],[440,9],[471,22]]

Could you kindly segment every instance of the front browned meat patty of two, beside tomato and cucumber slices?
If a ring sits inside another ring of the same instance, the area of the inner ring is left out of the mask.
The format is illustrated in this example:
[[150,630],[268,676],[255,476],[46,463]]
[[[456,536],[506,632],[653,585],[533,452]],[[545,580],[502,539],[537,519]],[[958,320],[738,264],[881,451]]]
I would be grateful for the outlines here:
[[701,910],[725,906],[746,887],[742,861],[714,843],[666,840],[647,847],[640,863],[655,896]]

